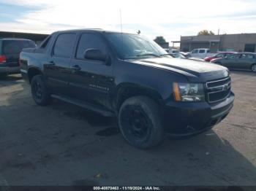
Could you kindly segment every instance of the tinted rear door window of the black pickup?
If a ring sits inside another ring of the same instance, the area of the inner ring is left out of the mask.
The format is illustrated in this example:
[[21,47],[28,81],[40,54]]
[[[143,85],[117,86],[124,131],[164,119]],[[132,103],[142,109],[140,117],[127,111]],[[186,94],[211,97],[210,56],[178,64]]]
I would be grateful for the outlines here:
[[53,55],[70,58],[75,43],[75,34],[60,34],[55,42]]

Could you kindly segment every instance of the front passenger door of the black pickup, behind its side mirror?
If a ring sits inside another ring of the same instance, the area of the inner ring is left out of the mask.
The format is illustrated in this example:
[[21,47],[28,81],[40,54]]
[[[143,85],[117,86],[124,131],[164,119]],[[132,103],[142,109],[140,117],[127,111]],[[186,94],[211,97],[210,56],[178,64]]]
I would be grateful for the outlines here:
[[83,55],[88,49],[97,49],[110,55],[102,34],[87,32],[80,35],[75,58],[71,61],[73,72],[69,85],[72,87],[72,96],[110,109],[110,91],[114,83],[113,66],[103,61],[85,59]]

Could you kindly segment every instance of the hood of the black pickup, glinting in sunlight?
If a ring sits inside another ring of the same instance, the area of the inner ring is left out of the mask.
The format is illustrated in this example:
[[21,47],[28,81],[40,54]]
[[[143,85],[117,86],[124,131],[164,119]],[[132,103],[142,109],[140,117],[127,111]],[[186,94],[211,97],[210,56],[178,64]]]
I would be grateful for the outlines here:
[[229,75],[228,69],[223,66],[182,58],[146,58],[133,60],[132,63],[173,71],[184,75],[190,82],[207,82]]

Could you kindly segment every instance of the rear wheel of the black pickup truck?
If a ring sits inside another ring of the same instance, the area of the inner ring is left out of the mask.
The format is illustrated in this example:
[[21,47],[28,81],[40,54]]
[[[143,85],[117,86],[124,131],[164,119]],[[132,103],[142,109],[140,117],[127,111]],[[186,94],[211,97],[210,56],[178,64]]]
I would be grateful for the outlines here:
[[42,75],[36,75],[31,80],[31,93],[34,101],[39,106],[46,106],[50,104],[50,93],[45,87]]

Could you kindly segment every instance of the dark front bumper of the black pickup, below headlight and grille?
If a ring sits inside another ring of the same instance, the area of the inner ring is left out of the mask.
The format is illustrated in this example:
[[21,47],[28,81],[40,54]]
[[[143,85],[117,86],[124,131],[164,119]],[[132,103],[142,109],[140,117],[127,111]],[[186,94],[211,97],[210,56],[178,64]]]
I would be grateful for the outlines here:
[[233,92],[216,104],[207,102],[169,101],[163,109],[163,122],[167,133],[173,136],[191,136],[211,129],[222,121],[233,107]]

